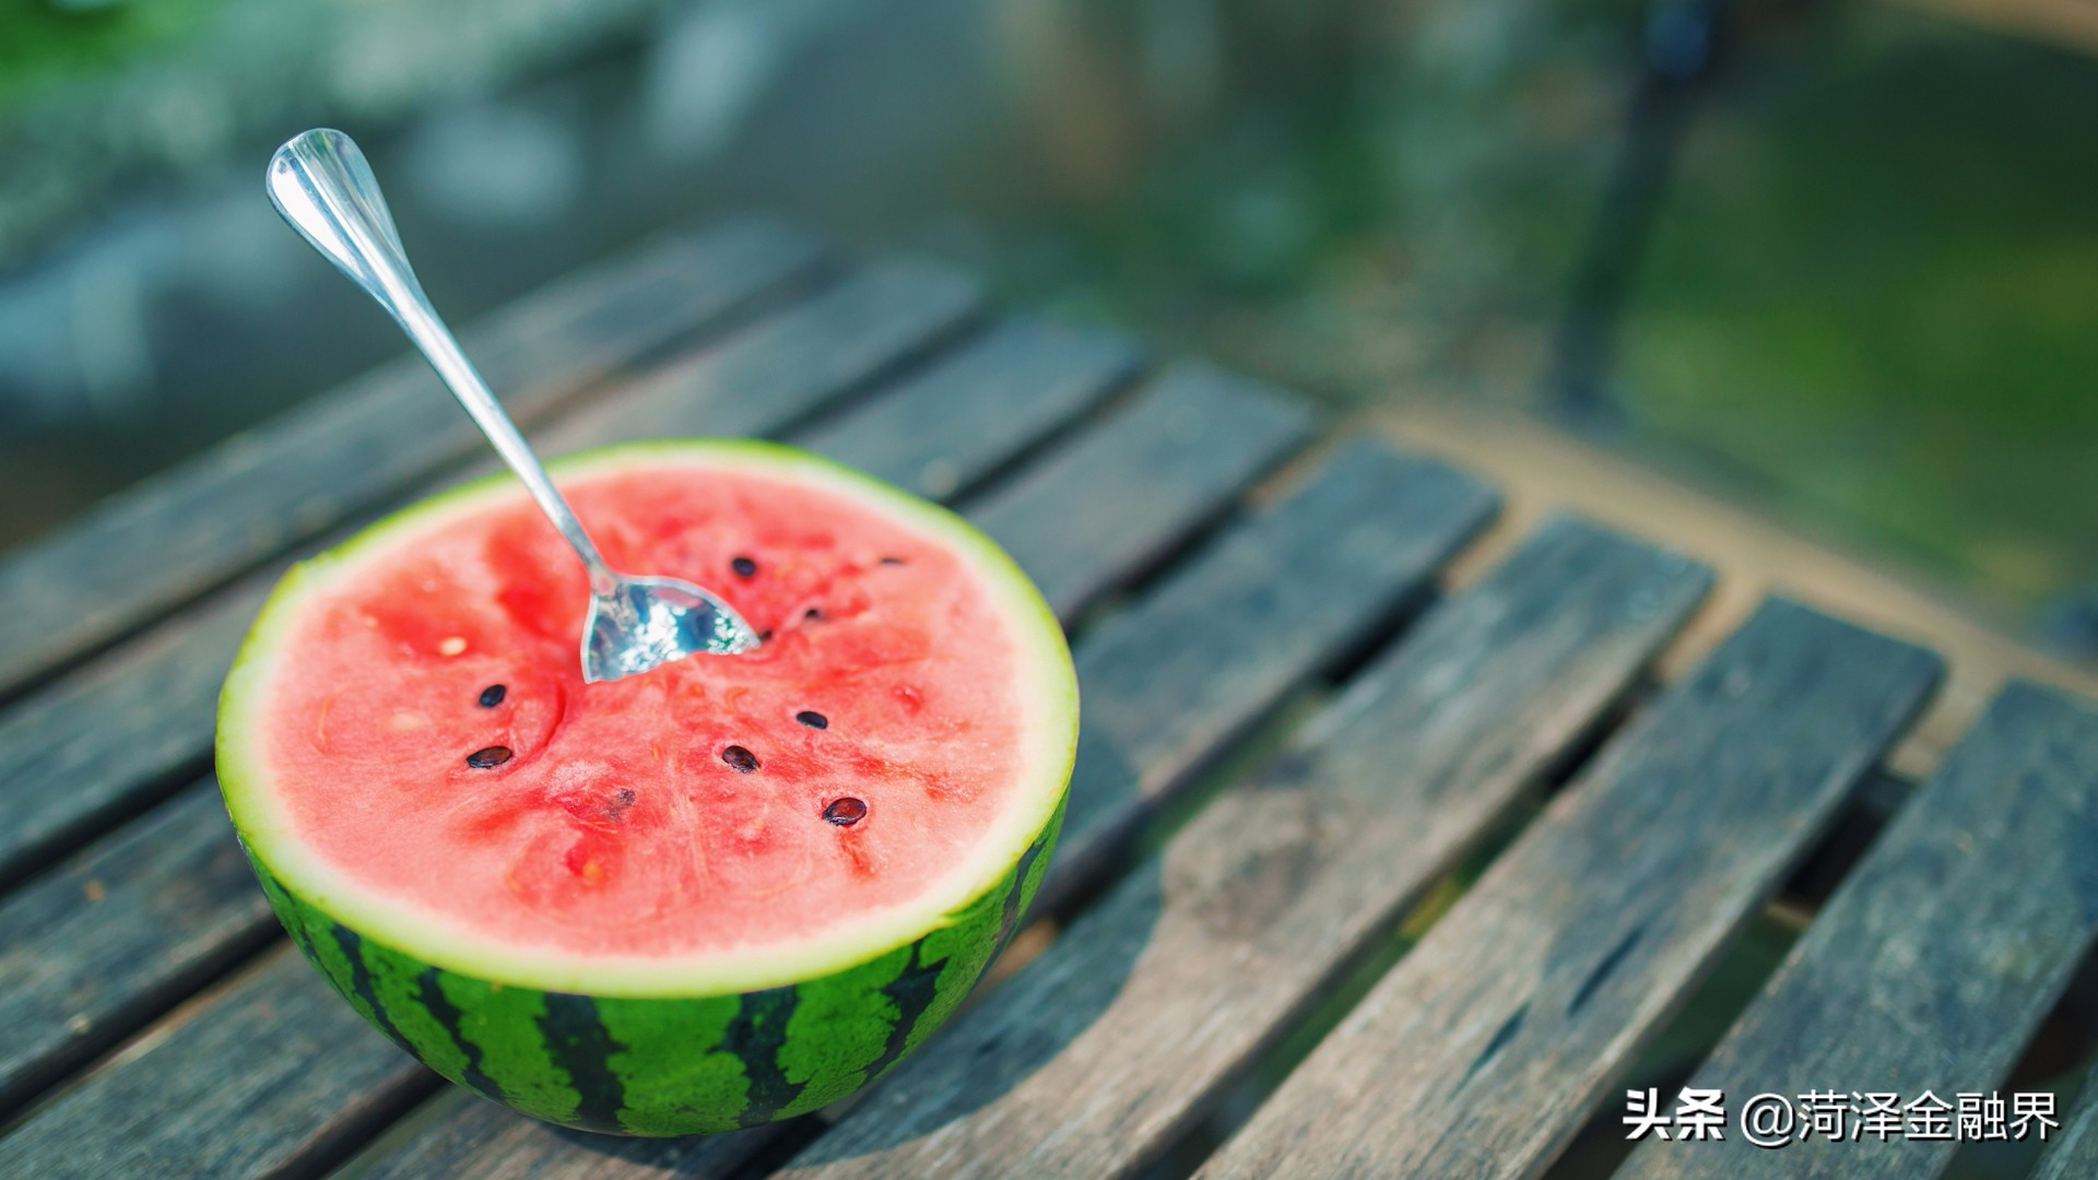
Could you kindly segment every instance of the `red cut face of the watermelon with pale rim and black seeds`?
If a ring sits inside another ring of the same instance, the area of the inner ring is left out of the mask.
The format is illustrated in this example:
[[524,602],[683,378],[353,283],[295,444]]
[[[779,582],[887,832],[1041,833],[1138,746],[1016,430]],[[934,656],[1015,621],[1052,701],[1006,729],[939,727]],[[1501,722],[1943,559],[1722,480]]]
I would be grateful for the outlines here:
[[497,981],[759,987],[894,943],[1041,829],[1068,655],[965,525],[759,445],[562,487],[613,567],[699,582],[766,642],[585,684],[583,573],[522,489],[378,529],[279,590],[229,680],[237,819],[306,897]]

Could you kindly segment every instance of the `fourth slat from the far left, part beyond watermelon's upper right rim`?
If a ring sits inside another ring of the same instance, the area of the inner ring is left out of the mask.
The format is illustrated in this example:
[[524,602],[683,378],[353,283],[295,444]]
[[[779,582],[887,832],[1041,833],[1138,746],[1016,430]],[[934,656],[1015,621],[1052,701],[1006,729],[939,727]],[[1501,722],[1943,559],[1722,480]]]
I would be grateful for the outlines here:
[[[1022,565],[1064,615],[1101,590],[1095,571],[1148,571],[1311,428],[1301,401],[1196,363],[1166,370],[1110,420],[1089,445],[1051,454],[978,510],[984,531],[1028,554]],[[1057,512],[1039,510],[1049,496],[1059,498]],[[1083,527],[1093,517],[1120,521],[1112,542]]]

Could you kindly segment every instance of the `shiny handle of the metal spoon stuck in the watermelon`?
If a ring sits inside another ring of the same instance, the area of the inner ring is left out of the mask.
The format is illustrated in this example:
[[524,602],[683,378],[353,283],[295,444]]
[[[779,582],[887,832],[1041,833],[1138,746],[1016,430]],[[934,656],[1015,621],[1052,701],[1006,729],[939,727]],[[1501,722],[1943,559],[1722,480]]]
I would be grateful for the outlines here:
[[407,338],[459,399],[480,433],[504,456],[510,470],[524,481],[533,500],[554,521],[560,535],[575,546],[590,571],[590,590],[608,594],[617,575],[604,565],[575,510],[539,466],[516,422],[504,414],[489,384],[466,359],[459,342],[422,294],[415,271],[407,265],[401,233],[394,229],[386,197],[380,193],[371,164],[357,143],[340,130],[317,128],[287,141],[269,162],[269,197],[292,229],[327,256],[352,283],[380,302]]

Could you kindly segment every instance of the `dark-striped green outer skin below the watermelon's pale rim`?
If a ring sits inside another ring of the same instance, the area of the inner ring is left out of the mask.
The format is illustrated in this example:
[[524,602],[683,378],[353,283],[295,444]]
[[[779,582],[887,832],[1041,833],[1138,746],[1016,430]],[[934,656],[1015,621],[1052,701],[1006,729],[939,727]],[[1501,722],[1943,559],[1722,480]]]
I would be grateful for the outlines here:
[[948,924],[841,972],[736,995],[594,997],[474,978],[352,930],[248,850],[321,976],[447,1079],[587,1132],[682,1136],[804,1115],[881,1077],[982,978],[1041,886],[1064,804]]

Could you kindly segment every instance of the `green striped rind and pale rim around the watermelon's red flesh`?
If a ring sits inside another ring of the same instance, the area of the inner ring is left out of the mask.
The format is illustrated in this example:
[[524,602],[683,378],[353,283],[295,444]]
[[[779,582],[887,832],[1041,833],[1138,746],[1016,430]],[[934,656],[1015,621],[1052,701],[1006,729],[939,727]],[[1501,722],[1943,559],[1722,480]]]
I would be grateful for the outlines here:
[[[986,840],[957,897],[860,924],[789,955],[745,955],[676,970],[516,962],[462,947],[457,932],[357,899],[298,857],[262,771],[243,745],[243,710],[262,699],[269,655],[306,592],[453,512],[516,496],[489,477],[388,517],[294,567],[235,657],[218,708],[216,762],[227,813],[264,894],[300,951],[373,1027],[436,1073],[529,1115],[600,1132],[722,1132],[791,1117],[879,1077],[967,995],[1034,897],[1064,819],[1076,756],[1078,687],[1055,613],[973,525],[820,456],[755,441],[627,443],[569,456],[573,477],[636,460],[755,466],[839,485],[971,559],[1003,596],[1024,661],[1041,682],[1036,789]],[[1018,831],[1018,836],[1013,836]],[[873,930],[866,930],[871,926]]]

